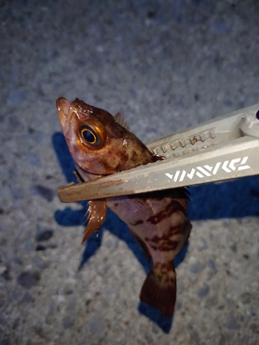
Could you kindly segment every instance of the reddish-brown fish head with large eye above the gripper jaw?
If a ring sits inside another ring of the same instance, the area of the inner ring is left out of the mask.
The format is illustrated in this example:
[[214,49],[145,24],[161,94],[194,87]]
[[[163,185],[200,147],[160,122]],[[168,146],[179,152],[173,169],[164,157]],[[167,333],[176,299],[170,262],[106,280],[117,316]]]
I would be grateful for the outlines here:
[[62,97],[57,112],[75,164],[88,175],[111,175],[158,159],[106,110]]

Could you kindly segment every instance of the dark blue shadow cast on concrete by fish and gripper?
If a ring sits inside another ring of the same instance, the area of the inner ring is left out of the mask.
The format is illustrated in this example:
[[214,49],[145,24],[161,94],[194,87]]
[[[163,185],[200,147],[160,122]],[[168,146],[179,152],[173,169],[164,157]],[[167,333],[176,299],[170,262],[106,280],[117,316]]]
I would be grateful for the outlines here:
[[[52,137],[52,144],[55,148],[59,164],[68,182],[74,181],[73,170],[75,166],[70,156],[66,140],[61,132]],[[259,215],[259,176],[244,177],[233,181],[221,182],[218,184],[207,184],[189,188],[191,203],[189,205],[189,218],[191,220],[222,219]],[[86,201],[80,202],[80,210],[57,210],[55,219],[61,226],[79,226],[84,224],[86,219]],[[102,244],[103,228],[108,228],[113,235],[122,239],[128,245],[135,257],[142,264],[146,273],[151,269],[151,262],[148,262],[143,250],[133,235],[128,231],[126,224],[121,221],[111,210],[108,210],[104,225],[98,232],[98,236],[92,235],[86,244],[79,269]],[[175,257],[175,267],[184,259],[187,246]],[[138,310],[155,322],[166,333],[170,331],[173,318],[164,317],[159,311],[147,304],[140,302]]]

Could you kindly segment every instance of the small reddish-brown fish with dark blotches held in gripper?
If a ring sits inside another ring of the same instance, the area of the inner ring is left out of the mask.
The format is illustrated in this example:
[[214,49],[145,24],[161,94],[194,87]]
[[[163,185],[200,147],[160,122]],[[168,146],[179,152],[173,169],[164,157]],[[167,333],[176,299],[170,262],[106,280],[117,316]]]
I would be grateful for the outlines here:
[[[56,103],[79,183],[164,159],[148,150],[119,112],[113,116],[78,98],[70,103],[61,97]],[[188,195],[186,188],[171,188],[88,201],[82,243],[102,226],[107,207],[111,208],[127,224],[146,257],[153,260],[140,300],[166,317],[175,308],[173,259],[188,242],[192,228],[186,214]]]

